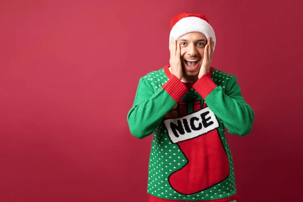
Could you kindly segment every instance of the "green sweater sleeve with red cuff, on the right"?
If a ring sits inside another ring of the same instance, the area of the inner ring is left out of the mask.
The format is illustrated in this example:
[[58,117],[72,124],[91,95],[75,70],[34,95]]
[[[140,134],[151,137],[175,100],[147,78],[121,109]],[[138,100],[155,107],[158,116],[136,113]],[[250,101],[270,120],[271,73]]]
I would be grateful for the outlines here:
[[250,133],[255,114],[241,95],[237,77],[229,78],[224,90],[222,86],[217,86],[207,73],[194,84],[193,88],[223,121],[228,133],[239,136]]

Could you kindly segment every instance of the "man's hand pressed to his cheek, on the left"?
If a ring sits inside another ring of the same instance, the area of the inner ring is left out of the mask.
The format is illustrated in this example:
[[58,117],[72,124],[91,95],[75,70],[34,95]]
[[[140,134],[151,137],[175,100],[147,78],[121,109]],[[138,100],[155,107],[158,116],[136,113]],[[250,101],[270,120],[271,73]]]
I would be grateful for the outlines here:
[[182,79],[183,73],[182,73],[182,64],[181,64],[181,47],[180,44],[177,44],[176,39],[171,37],[170,40],[170,66],[171,66],[171,72],[173,75],[175,75],[179,80]]

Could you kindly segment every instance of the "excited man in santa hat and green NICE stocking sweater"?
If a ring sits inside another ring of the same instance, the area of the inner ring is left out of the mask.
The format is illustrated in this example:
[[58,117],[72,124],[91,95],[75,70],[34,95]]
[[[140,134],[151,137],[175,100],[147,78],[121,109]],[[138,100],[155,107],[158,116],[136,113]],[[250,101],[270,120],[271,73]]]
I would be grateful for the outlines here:
[[151,133],[150,202],[235,201],[238,194],[225,127],[250,133],[254,112],[237,77],[211,67],[215,32],[202,14],[171,21],[170,65],[139,80],[127,115],[130,132]]

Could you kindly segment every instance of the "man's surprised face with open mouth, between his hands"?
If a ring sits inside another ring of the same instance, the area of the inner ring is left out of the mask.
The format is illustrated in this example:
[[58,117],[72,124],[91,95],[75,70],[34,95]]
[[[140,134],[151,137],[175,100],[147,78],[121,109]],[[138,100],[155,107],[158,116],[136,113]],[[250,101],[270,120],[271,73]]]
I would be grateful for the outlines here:
[[181,63],[183,77],[189,80],[196,80],[202,65],[204,48],[207,38],[203,33],[190,32],[180,36],[177,43],[181,47]]

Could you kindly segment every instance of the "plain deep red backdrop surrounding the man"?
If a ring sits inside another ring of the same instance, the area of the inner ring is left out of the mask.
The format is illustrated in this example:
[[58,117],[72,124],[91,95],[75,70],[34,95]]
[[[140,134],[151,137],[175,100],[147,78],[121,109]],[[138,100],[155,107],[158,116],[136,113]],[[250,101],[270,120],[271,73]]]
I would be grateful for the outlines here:
[[151,136],[126,115],[169,61],[170,19],[205,14],[213,66],[252,132],[227,135],[238,201],[302,201],[301,1],[0,1],[0,200],[146,201]]

